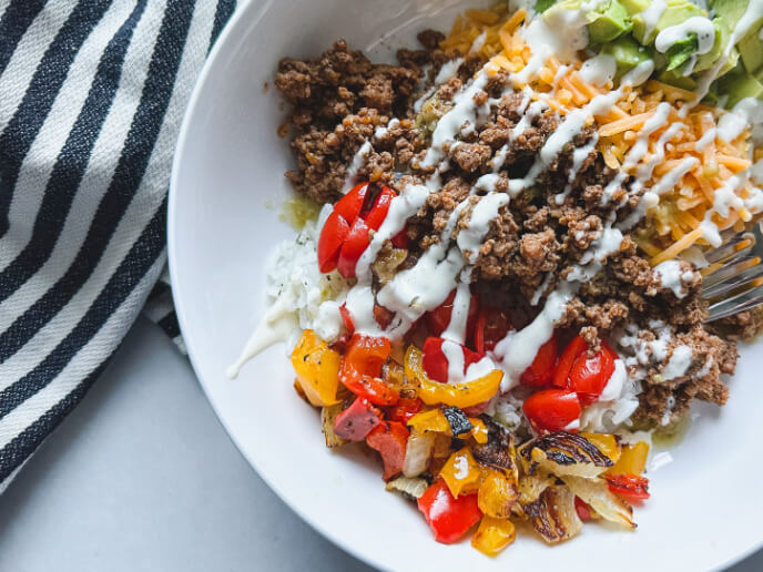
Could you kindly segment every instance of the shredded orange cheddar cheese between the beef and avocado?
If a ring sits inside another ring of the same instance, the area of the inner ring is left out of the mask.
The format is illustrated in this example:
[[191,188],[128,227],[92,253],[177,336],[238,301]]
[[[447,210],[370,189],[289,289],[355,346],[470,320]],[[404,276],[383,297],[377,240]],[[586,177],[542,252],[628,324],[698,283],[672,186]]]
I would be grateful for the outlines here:
[[[503,8],[467,10],[456,19],[441,48],[457,50],[462,55],[477,53],[498,69],[517,73],[532,55],[518,33],[526,17],[525,9],[510,16]],[[614,89],[611,82],[602,86],[587,82],[579,72],[582,61],[564,64],[566,69],[560,71],[560,62],[550,57],[529,83],[536,92],[533,99],[542,96],[560,115],[580,109],[597,95]],[[719,120],[725,113],[723,110],[695,104],[694,93],[655,80],[634,89],[625,88],[622,92],[622,98],[607,115],[594,118],[599,133],[597,147],[609,167],[638,176],[643,172],[640,170],[649,165],[652,171],[644,181],[644,187],[653,188],[663,177],[674,176],[688,157],[696,159],[685,173],[678,171],[681,176],[670,188],[660,187],[659,204],[648,211],[644,223],[633,233],[639,246],[650,256],[650,263],[657,265],[672,259],[694,244],[706,245],[700,228],[706,215],[721,231],[744,227],[753,213],[731,205],[729,215],[721,217],[713,211],[713,205],[719,190],[725,188],[732,177],[750,167],[751,160],[763,159],[763,149],[750,149],[749,131],[742,132],[734,141],[723,141],[715,135]],[[667,121],[643,141],[641,131],[644,124],[663,102],[670,105]],[[694,105],[685,116],[681,116],[680,110],[688,102]],[[682,124],[682,127],[674,127],[665,135],[674,124]],[[645,153],[635,164],[627,163],[637,144],[645,144]],[[745,197],[750,193],[747,182],[736,194]]]

